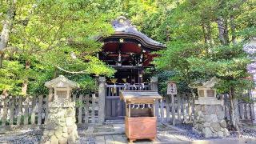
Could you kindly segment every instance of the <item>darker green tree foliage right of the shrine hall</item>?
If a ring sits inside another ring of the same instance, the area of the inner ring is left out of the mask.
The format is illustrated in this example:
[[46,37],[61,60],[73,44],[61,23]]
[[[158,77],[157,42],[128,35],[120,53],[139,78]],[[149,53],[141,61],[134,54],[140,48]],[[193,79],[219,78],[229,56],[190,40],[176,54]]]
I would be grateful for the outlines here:
[[[154,59],[157,69],[173,70],[175,75],[169,78],[187,84],[217,77],[221,79],[217,87],[222,93],[228,92],[230,86],[238,91],[241,87],[250,89],[252,82],[247,79],[250,75],[246,71],[250,58],[242,46],[255,36],[254,4],[253,1],[182,1],[171,9],[166,19],[154,19],[162,22],[159,28],[163,26],[162,30],[168,32],[158,38],[162,40],[166,35],[170,41],[167,49],[159,52],[161,57]],[[219,38],[220,17],[227,24],[230,40],[227,45],[222,45]],[[231,42],[232,38],[236,42]]]

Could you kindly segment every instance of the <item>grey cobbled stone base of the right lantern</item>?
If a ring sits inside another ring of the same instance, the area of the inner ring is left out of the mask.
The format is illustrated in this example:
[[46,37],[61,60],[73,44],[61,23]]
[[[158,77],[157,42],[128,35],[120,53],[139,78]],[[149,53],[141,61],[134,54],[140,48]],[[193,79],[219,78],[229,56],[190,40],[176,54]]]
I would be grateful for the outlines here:
[[195,105],[194,130],[206,138],[229,136],[224,117],[222,105]]

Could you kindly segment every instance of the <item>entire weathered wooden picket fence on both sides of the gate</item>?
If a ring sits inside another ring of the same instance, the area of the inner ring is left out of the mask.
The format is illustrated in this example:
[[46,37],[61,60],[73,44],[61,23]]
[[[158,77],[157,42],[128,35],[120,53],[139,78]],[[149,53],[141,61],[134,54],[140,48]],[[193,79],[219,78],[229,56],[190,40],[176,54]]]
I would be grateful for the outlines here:
[[[160,122],[192,122],[194,118],[194,104],[190,94],[180,94],[174,97],[174,108],[171,98],[165,97],[156,102],[156,115]],[[226,119],[230,120],[228,99],[223,96]],[[0,102],[0,128],[6,126],[43,126],[48,114],[46,95],[22,98],[8,97]],[[78,126],[87,123],[98,123],[98,97],[95,94],[74,94],[76,102],[76,122]],[[238,102],[238,113],[241,122],[252,122],[254,117],[253,103]]]

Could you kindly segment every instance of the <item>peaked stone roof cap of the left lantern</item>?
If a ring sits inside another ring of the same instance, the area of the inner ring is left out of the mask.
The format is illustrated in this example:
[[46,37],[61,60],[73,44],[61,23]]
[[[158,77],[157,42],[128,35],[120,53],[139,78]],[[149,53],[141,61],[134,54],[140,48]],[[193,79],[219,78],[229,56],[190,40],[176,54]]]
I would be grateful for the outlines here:
[[54,88],[54,87],[59,87],[59,88],[65,88],[65,87],[70,87],[70,88],[78,88],[78,83],[70,81],[69,79],[65,78],[63,75],[58,76],[58,78],[54,78],[48,82],[45,83],[45,86],[47,88]]

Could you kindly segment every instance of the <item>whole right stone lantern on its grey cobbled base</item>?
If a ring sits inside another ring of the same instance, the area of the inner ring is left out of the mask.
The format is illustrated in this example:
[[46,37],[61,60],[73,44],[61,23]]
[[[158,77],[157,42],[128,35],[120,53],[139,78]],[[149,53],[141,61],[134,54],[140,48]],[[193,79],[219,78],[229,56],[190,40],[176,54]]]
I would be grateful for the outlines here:
[[224,101],[216,98],[214,85],[217,82],[217,78],[211,78],[210,81],[192,86],[198,90],[198,99],[194,101],[194,130],[206,138],[223,138],[230,135],[224,120]]

